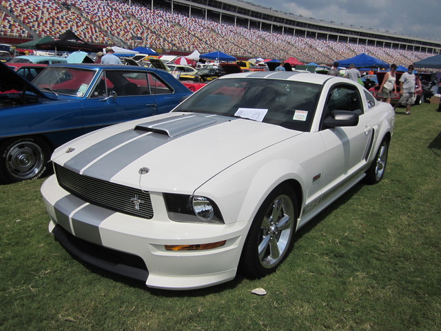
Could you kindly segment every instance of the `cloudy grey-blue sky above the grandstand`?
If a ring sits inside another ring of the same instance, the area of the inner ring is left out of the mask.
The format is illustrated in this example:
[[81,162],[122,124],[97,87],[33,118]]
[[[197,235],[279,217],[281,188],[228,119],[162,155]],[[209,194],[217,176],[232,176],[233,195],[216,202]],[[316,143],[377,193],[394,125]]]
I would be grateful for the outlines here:
[[302,17],[441,41],[441,0],[247,0]]

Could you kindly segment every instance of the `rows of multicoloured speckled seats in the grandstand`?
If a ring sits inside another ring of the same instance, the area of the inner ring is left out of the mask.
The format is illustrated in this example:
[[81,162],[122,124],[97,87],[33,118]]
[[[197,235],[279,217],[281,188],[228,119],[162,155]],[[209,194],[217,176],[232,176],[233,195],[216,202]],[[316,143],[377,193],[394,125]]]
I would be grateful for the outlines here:
[[[14,16],[39,37],[57,37],[70,29],[89,43],[149,46],[163,53],[221,50],[236,57],[296,57],[305,63],[332,63],[365,52],[387,63],[406,64],[432,55],[248,29],[205,17],[189,17],[188,13],[172,12],[171,8],[150,8],[149,3],[136,1],[72,0],[71,10],[54,0],[0,2],[11,12],[3,12],[0,31],[21,38],[32,39],[30,32],[14,21]],[[136,45],[134,37],[141,40],[140,45]]]

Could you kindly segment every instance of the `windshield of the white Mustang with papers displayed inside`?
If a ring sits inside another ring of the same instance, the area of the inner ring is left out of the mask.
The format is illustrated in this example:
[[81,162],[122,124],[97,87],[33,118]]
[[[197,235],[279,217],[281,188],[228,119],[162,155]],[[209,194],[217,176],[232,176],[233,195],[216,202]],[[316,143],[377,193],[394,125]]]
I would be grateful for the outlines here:
[[241,117],[307,132],[320,90],[320,85],[281,79],[216,79],[174,111]]

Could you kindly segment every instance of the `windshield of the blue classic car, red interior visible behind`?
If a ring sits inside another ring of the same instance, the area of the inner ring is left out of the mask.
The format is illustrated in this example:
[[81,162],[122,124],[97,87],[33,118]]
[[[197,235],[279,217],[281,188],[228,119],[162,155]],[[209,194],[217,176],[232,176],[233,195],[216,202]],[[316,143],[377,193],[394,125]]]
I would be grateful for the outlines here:
[[88,69],[48,67],[32,83],[45,92],[84,97],[95,73]]

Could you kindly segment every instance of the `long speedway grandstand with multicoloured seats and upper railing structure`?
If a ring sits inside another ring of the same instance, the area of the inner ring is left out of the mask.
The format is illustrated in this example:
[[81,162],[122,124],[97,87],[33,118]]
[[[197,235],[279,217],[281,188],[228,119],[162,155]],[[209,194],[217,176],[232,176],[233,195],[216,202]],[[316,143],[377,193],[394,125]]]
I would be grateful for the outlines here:
[[100,46],[162,54],[221,50],[238,59],[296,57],[332,63],[362,52],[407,65],[441,43],[296,16],[236,0],[0,0],[0,41],[23,43],[70,29]]

